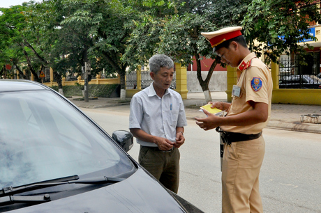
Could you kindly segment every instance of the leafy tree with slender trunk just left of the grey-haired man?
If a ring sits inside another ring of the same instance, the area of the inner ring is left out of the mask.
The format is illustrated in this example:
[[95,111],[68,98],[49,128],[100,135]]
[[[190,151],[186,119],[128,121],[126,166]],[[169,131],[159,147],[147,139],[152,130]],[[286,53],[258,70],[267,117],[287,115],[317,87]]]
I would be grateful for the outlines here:
[[121,56],[125,52],[130,35],[125,25],[135,15],[126,2],[61,0],[64,5],[61,30],[69,32],[70,36],[67,38],[73,40],[72,47],[68,47],[81,48],[82,54],[78,56],[82,56],[82,63],[90,60],[91,64],[96,66],[94,70],[105,66],[106,70],[117,72],[121,79],[121,97],[125,97],[125,76],[128,67],[126,62],[121,61]]

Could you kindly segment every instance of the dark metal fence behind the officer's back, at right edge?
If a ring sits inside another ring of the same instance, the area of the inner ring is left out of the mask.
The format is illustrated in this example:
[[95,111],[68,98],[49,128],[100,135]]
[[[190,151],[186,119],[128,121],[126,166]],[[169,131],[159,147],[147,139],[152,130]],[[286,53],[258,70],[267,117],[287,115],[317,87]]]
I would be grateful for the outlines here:
[[297,55],[280,59],[279,88],[321,88],[320,53],[307,58],[306,65],[299,64]]

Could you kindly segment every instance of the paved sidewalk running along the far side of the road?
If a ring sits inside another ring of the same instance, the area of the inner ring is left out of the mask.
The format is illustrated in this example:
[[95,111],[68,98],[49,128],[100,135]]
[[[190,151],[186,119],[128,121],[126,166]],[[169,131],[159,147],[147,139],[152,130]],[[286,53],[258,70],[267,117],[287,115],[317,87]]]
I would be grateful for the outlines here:
[[[211,97],[213,101],[227,102],[227,95],[225,92],[212,92]],[[74,100],[75,97],[68,98],[77,107],[82,108],[105,108],[117,107],[119,105],[128,105],[130,99],[124,101],[119,100],[119,97],[104,98],[98,97],[97,100]],[[198,106],[206,104],[203,93],[187,93],[187,99],[183,100],[186,111],[186,118],[193,120],[195,117],[204,118],[204,113],[199,111]],[[321,114],[321,106],[318,105],[296,105],[296,104],[272,104],[271,118],[267,127],[276,129],[285,129],[298,132],[311,132],[321,134],[321,124],[301,123],[301,115]]]

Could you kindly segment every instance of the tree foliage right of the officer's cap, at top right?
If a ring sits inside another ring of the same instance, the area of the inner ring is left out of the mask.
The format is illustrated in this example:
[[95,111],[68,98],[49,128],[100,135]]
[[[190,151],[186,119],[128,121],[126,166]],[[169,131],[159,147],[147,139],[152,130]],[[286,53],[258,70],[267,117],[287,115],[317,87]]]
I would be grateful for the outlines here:
[[[304,38],[315,40],[308,27],[321,21],[319,6],[320,1],[314,0],[253,0],[241,23],[251,50],[258,56],[263,52],[266,63],[277,63],[283,53],[298,53],[301,64],[306,64],[306,49],[298,43]],[[308,44],[306,47],[311,48]]]

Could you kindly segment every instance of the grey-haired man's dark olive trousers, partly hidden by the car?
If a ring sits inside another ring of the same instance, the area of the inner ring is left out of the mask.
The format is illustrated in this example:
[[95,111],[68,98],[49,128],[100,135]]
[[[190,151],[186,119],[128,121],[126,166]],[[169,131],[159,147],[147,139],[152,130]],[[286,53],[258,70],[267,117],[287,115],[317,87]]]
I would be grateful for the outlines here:
[[158,148],[140,146],[138,162],[167,189],[179,190],[179,149],[163,152]]

